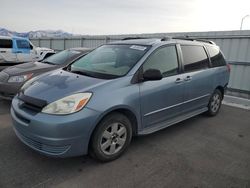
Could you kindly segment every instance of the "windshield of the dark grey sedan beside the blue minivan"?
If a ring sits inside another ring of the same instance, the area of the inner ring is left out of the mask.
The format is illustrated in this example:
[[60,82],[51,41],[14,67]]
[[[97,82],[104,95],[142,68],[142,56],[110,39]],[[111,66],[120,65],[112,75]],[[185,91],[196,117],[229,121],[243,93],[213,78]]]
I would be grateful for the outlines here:
[[70,63],[71,59],[77,58],[81,52],[76,50],[64,50],[61,52],[58,52],[52,56],[49,56],[48,58],[44,59],[43,63],[49,63],[54,65],[61,65],[64,63]]

